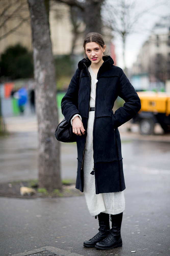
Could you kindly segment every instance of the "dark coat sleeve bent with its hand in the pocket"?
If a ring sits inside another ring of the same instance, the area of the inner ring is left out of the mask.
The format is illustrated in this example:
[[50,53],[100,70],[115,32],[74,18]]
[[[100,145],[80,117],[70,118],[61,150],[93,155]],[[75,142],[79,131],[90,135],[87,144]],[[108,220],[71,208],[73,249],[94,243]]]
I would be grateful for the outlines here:
[[119,127],[132,119],[141,109],[139,96],[122,69],[120,70],[118,95],[125,103],[123,107],[117,109],[113,115],[115,127]]

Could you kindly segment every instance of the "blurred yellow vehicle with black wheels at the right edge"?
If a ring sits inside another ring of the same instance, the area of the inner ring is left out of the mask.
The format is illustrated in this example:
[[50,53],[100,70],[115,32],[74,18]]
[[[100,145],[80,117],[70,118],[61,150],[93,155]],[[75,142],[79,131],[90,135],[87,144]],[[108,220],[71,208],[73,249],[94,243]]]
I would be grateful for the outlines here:
[[137,92],[141,101],[141,110],[132,120],[139,123],[141,134],[154,133],[155,123],[160,123],[165,132],[170,132],[170,93]]

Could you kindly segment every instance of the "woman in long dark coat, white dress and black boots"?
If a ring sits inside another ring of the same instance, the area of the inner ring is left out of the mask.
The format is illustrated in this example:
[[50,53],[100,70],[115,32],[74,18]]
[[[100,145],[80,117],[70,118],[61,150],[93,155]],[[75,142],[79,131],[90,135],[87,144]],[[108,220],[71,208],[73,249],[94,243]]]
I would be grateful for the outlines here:
[[[125,182],[117,127],[141,108],[135,89],[123,70],[113,65],[112,58],[104,56],[105,50],[100,34],[92,32],[86,36],[84,52],[88,58],[78,63],[61,102],[62,113],[77,135],[76,188],[84,191],[90,214],[99,220],[99,232],[83,245],[98,249],[122,246]],[[118,96],[125,103],[113,113]]]

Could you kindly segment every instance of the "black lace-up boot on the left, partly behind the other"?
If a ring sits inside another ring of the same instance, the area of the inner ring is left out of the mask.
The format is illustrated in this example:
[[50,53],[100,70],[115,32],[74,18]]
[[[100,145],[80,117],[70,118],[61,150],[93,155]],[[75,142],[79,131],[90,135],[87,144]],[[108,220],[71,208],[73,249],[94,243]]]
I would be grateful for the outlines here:
[[95,247],[97,242],[102,241],[107,237],[110,231],[110,223],[109,223],[109,214],[101,212],[98,214],[99,220],[99,232],[90,240],[84,241],[83,245],[85,247]]

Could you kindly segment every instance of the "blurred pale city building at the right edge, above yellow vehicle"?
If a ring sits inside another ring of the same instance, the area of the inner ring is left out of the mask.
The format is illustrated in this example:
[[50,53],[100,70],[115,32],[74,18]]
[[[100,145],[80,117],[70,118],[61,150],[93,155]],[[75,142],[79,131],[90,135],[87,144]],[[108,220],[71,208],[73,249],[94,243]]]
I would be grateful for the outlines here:
[[132,68],[137,90],[164,90],[170,79],[170,16],[156,23]]

